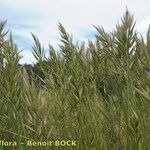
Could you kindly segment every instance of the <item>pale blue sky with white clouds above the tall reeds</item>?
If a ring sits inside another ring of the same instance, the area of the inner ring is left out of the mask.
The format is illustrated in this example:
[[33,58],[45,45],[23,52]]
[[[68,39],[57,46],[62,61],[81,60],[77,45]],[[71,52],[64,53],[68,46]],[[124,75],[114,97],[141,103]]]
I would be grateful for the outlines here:
[[23,58],[20,63],[35,63],[33,39],[37,35],[47,49],[60,43],[58,22],[75,40],[94,39],[93,25],[112,31],[128,10],[134,15],[136,29],[145,34],[150,24],[149,0],[0,0],[0,20],[7,20],[7,29],[18,44]]

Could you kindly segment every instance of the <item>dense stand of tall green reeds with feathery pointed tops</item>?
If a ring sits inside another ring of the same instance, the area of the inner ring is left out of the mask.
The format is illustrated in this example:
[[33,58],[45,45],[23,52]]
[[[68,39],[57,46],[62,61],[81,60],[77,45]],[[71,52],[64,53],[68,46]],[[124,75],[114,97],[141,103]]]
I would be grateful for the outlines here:
[[0,23],[0,150],[150,150],[150,29],[143,38],[128,11],[111,33],[95,29],[87,45],[59,24],[49,57],[32,35],[27,66]]

